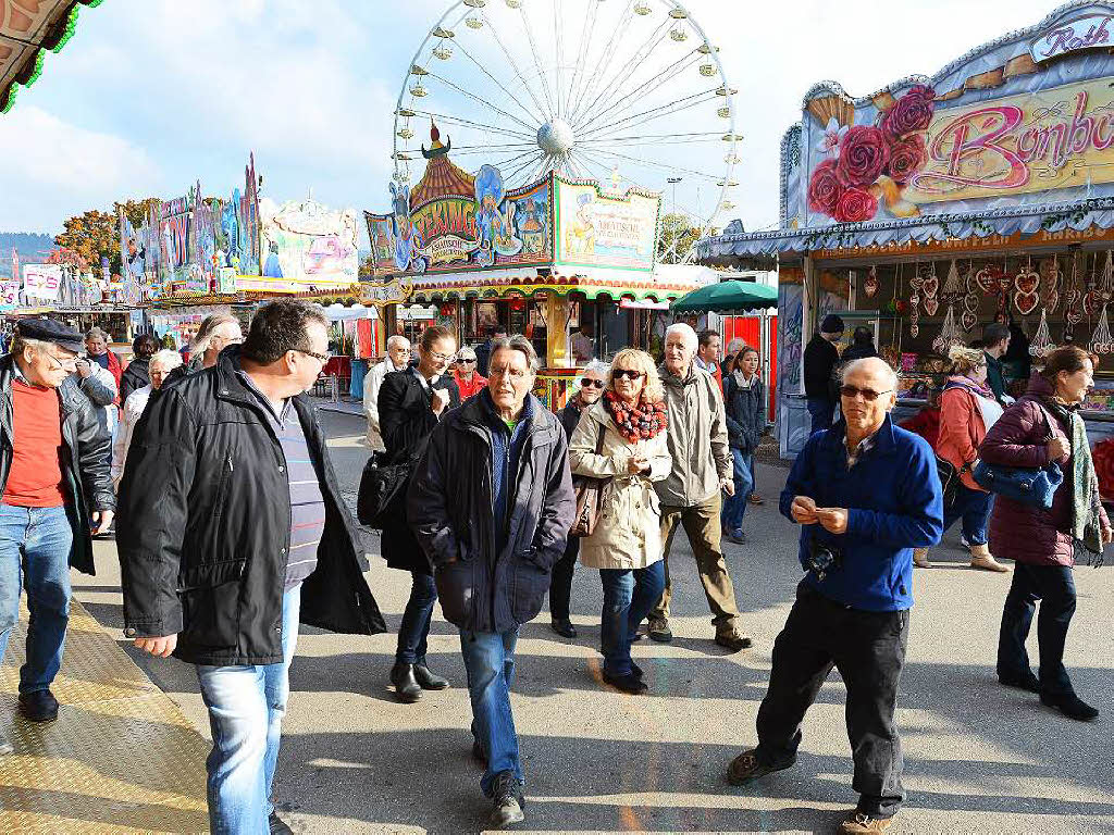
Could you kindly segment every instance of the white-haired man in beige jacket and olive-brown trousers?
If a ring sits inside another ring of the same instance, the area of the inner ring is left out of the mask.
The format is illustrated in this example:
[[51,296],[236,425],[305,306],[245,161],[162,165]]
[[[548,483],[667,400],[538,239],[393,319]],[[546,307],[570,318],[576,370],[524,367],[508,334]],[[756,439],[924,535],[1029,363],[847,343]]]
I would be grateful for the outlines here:
[[751,646],[739,629],[735,588],[723,559],[720,491],[734,495],[732,456],[723,396],[707,372],[695,367],[696,332],[688,325],[665,331],[665,364],[659,369],[670,414],[668,445],[673,471],[654,484],[662,502],[662,541],[665,543],[665,592],[649,613],[649,637],[666,644],[670,629],[670,549],[677,525],[685,529],[696,557],[704,595],[712,609],[715,642],[733,652]]

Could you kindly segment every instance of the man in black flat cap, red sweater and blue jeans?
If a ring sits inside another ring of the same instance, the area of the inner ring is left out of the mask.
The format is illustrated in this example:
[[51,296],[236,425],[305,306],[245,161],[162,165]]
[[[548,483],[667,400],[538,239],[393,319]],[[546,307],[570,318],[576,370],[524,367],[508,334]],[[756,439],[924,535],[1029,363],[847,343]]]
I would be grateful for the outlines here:
[[[69,622],[69,568],[95,573],[90,511],[99,533],[111,524],[115,505],[111,441],[74,376],[81,348],[77,331],[22,320],[0,357],[0,657],[26,578],[31,620],[19,711],[30,721],[58,718],[50,685]],[[0,731],[0,754],[11,750]]]

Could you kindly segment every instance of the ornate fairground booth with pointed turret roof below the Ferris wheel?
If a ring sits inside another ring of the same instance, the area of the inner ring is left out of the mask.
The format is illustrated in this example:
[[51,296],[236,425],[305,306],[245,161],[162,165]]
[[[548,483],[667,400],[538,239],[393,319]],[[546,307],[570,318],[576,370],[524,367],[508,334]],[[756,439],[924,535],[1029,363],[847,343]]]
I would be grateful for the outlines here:
[[[421,180],[391,184],[391,213],[365,213],[373,269],[389,297],[388,334],[416,338],[429,322],[449,327],[461,345],[496,327],[525,334],[543,357],[536,393],[558,406],[584,365],[571,334],[590,332],[597,357],[651,348],[670,302],[714,278],[656,263],[657,194],[554,171],[507,189],[495,166],[476,174],[457,166],[436,126],[430,139]],[[414,318],[414,307],[426,305],[434,318]]]

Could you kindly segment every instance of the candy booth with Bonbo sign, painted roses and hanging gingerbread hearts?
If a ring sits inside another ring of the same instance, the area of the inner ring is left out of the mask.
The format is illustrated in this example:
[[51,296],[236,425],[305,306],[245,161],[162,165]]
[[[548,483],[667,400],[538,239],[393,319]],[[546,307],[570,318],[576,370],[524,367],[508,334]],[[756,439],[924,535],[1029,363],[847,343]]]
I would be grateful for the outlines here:
[[782,140],[780,228],[698,245],[706,264],[779,265],[783,455],[808,436],[802,354],[828,313],[844,341],[869,327],[899,370],[898,418],[948,347],[997,318],[1014,393],[1057,345],[1097,354],[1084,414],[1093,440],[1114,433],[1112,18],[1114,3],[1073,2],[931,77],[858,99],[809,90]]

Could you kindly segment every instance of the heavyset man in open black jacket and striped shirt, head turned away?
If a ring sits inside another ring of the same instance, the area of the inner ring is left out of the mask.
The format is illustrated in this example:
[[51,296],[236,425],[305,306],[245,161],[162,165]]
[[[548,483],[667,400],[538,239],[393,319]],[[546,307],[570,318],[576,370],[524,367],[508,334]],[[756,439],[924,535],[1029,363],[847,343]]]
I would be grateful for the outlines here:
[[150,403],[120,483],[125,635],[197,666],[214,832],[290,832],[271,785],[299,620],[385,630],[304,396],[326,327],[302,302],[261,307],[243,348]]

